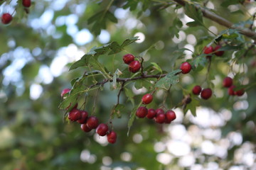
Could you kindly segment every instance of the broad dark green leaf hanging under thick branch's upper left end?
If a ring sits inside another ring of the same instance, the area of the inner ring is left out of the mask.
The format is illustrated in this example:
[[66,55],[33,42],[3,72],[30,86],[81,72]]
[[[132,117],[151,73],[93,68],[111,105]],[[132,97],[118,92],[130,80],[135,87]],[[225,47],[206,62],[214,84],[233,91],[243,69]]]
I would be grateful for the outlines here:
[[185,13],[188,17],[194,20],[193,25],[197,24],[198,26],[203,26],[203,14],[201,10],[196,8],[196,6],[186,3]]

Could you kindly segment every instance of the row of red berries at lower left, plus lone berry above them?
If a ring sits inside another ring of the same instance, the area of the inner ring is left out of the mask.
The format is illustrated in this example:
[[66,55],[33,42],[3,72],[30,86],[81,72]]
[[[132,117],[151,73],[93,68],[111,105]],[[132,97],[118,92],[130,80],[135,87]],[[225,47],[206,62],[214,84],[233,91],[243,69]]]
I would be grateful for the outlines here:
[[[63,89],[60,96],[63,97],[67,94],[70,89]],[[70,106],[68,106],[70,107]],[[88,116],[87,111],[80,111],[78,105],[68,113],[68,119],[73,122],[77,122],[81,124],[81,129],[84,132],[90,132],[93,129],[96,129],[96,132],[100,136],[107,135],[107,141],[114,144],[117,141],[117,133],[113,130],[109,130],[109,127],[105,123],[99,124],[99,120],[96,116]]]

